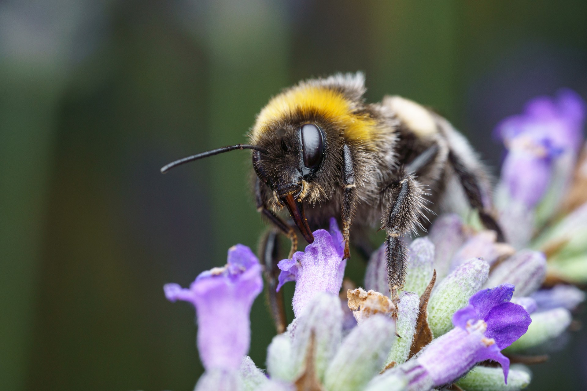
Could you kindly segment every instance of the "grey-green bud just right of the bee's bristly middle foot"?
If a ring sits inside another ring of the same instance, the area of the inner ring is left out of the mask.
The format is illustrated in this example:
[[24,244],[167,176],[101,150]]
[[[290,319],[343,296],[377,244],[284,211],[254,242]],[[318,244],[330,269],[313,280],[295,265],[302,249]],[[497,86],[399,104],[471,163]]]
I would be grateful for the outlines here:
[[434,271],[434,244],[420,237],[410,244],[410,260],[406,271],[404,291],[418,296],[424,293]]

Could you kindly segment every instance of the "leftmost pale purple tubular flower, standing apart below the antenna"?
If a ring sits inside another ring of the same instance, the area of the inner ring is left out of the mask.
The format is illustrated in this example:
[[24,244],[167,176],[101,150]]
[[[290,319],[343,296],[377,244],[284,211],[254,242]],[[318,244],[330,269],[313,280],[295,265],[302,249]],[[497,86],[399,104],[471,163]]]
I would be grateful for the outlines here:
[[237,370],[251,343],[251,306],[263,289],[261,265],[251,249],[232,246],[226,266],[200,273],[189,289],[178,284],[163,288],[168,300],[194,304],[204,368]]

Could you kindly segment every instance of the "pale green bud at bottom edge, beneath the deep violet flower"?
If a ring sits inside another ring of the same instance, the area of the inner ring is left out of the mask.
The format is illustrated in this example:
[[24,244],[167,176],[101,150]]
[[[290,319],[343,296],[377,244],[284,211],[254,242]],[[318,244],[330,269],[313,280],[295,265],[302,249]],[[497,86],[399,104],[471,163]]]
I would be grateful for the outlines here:
[[516,369],[512,365],[508,373],[508,383],[505,384],[501,368],[478,365],[460,378],[457,385],[467,391],[518,391],[527,387],[530,379],[527,371]]

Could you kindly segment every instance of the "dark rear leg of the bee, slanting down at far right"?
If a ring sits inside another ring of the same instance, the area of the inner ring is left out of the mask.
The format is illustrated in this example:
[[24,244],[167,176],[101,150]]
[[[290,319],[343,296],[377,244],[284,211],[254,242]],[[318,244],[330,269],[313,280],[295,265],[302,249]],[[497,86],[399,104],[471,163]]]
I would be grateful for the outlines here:
[[481,187],[473,174],[467,166],[463,164],[463,161],[453,152],[448,152],[448,161],[450,161],[451,166],[453,166],[454,171],[456,172],[461,185],[465,191],[465,195],[469,201],[471,207],[475,208],[479,212],[479,217],[481,219],[481,223],[485,226],[485,228],[494,230],[497,233],[497,241],[498,242],[505,242],[504,232],[501,230],[500,225],[495,221],[494,217],[491,216],[491,213],[485,209],[483,205],[483,197],[481,193]]

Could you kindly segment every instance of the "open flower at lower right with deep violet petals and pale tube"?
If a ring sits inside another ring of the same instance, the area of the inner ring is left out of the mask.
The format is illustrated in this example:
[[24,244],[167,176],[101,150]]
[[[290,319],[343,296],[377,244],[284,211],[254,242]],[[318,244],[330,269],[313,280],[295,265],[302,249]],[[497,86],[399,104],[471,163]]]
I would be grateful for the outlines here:
[[424,373],[413,371],[419,375],[411,382],[432,382],[434,386],[451,383],[475,363],[488,359],[501,364],[507,382],[510,360],[501,349],[523,335],[531,322],[521,305],[510,302],[512,294],[514,285],[503,284],[471,296],[467,307],[454,313],[455,328],[435,339],[417,357]]

